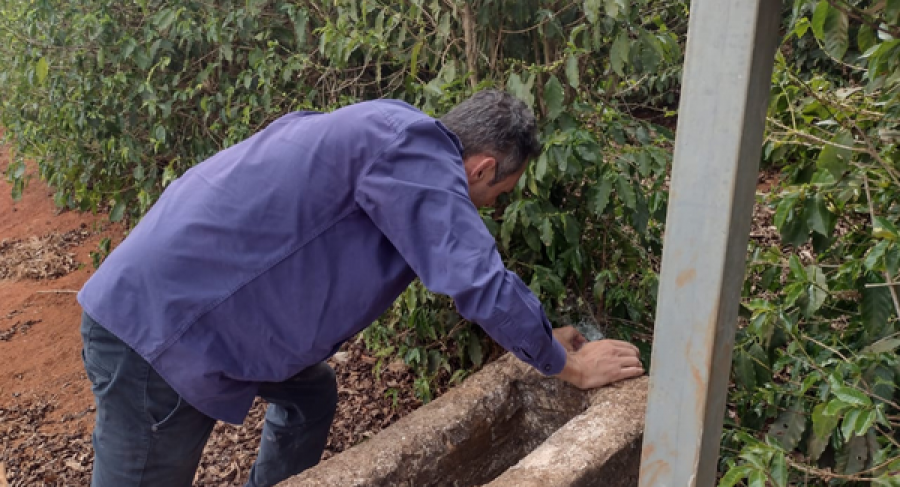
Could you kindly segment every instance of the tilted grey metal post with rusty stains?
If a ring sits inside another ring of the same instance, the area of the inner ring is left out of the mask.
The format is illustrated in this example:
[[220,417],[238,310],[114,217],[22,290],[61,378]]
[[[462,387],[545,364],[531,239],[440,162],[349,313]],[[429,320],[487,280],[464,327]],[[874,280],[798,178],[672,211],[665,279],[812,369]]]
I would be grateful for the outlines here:
[[641,487],[716,483],[780,0],[693,0]]

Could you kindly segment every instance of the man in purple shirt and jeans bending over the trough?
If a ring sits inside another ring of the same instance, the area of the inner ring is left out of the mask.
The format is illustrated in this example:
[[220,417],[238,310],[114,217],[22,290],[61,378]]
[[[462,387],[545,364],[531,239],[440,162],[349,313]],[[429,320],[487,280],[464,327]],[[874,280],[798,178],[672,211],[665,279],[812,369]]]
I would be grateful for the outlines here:
[[78,294],[97,402],[95,487],[180,487],[216,421],[268,403],[248,485],[319,462],[325,363],[418,277],[548,376],[643,374],[630,344],[552,330],[478,207],[539,152],[534,116],[482,91],[433,119],[393,100],[294,112],[188,170]]

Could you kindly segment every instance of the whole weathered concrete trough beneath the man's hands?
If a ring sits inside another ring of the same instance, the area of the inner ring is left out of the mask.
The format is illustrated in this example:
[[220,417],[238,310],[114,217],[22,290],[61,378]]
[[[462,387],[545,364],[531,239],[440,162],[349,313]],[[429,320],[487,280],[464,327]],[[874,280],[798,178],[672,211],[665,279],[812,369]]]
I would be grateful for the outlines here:
[[507,354],[279,486],[636,486],[647,386],[580,391]]

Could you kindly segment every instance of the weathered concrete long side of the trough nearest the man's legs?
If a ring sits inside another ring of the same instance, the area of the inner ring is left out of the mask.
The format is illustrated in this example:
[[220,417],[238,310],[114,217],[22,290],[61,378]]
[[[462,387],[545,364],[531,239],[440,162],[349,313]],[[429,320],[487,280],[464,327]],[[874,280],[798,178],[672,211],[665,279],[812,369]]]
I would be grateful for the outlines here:
[[278,487],[396,484],[398,465],[405,465],[409,472],[440,458],[464,442],[473,429],[502,416],[512,402],[512,384],[530,373],[534,373],[530,367],[507,354],[369,440]]

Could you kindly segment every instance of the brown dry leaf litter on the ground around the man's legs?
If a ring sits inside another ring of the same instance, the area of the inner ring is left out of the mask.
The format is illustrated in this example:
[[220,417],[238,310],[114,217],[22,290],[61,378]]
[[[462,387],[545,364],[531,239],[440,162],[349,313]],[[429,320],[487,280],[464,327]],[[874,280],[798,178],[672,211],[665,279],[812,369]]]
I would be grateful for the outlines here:
[[[377,362],[360,342],[346,344],[329,361],[338,377],[339,403],[324,458],[365,441],[421,405],[405,365],[389,364],[376,377]],[[69,424],[93,414],[93,408],[52,421],[54,408],[53,398],[18,397],[0,406],[0,465],[10,486],[89,485],[90,431],[71,431]],[[264,415],[265,403],[257,400],[243,425],[217,424],[194,485],[243,485],[256,458]]]

